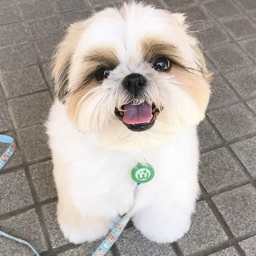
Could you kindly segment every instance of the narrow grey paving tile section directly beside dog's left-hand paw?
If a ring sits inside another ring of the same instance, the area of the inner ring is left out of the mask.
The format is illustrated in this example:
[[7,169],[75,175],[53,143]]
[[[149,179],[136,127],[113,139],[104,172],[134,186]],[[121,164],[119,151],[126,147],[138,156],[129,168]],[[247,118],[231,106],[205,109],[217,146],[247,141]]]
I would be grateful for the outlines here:
[[69,243],[69,241],[63,236],[58,226],[56,207],[57,204],[55,202],[42,206],[42,212],[44,215],[44,220],[49,233],[52,248],[56,248]]

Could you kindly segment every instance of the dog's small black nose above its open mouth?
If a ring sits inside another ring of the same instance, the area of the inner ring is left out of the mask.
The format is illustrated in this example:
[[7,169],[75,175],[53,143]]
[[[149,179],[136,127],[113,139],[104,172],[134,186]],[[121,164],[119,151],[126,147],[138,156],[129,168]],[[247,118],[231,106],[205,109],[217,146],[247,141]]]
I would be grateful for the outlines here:
[[145,79],[142,75],[131,73],[123,79],[123,87],[133,93],[135,97],[138,95],[141,88],[145,85]]

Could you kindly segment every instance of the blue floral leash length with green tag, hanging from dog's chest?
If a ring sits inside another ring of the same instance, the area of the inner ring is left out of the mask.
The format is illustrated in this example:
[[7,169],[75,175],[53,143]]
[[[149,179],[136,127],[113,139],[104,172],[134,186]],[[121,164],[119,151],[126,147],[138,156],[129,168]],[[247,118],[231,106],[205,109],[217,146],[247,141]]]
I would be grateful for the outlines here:
[[115,224],[115,227],[109,232],[107,237],[103,240],[103,242],[100,244],[100,246],[97,248],[97,250],[93,253],[92,256],[104,256],[111,246],[115,244],[123,230],[125,229],[125,226],[131,219],[131,214],[134,210],[135,203],[138,198],[139,189],[141,186],[141,183],[146,183],[151,181],[155,175],[154,169],[151,165],[143,165],[141,163],[138,163],[131,171],[131,177],[135,182],[137,182],[137,185],[134,190],[134,196],[133,196],[133,205],[131,206],[131,209],[123,218],[121,218],[120,221],[118,221]]

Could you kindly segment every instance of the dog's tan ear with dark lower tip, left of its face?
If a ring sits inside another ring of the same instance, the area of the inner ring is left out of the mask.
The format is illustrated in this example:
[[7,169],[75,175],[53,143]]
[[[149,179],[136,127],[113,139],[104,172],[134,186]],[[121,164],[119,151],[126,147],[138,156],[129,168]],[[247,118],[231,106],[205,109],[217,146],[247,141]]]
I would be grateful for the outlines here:
[[55,82],[54,95],[61,102],[65,102],[68,93],[69,71],[76,46],[86,28],[86,22],[76,22],[67,28],[67,34],[55,50],[53,56],[52,76]]

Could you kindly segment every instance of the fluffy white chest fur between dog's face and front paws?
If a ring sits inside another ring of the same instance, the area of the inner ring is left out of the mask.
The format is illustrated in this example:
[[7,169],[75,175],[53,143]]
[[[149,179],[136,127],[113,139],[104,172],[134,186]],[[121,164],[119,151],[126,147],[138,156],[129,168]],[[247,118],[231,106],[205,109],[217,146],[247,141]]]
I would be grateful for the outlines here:
[[127,152],[109,150],[97,146],[94,135],[73,128],[63,105],[56,102],[48,134],[57,188],[65,189],[82,214],[112,218],[129,210],[135,187],[131,170],[142,161],[153,166],[155,177],[141,186],[135,212],[152,202],[182,201],[197,194],[189,195],[193,186],[197,190],[195,127],[187,128],[161,147]]

